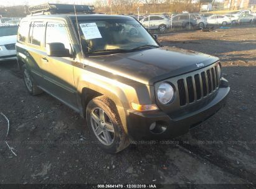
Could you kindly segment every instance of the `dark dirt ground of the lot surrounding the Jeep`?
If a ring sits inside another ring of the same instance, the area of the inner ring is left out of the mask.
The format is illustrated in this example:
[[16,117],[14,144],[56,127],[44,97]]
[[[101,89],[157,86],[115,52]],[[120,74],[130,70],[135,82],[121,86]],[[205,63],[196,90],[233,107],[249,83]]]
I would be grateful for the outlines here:
[[225,108],[166,144],[130,145],[119,154],[105,154],[91,142],[84,119],[49,94],[30,96],[16,63],[1,63],[0,111],[10,120],[7,141],[17,157],[6,147],[7,124],[0,116],[0,183],[254,188],[256,27],[174,32],[159,35],[159,42],[220,57],[231,88]]

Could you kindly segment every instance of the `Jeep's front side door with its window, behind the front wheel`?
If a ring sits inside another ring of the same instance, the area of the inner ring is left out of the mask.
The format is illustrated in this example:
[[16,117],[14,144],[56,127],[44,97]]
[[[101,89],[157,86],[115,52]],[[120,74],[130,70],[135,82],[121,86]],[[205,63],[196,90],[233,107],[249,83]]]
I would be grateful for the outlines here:
[[[49,57],[45,46],[59,42],[69,49],[70,57]],[[64,21],[52,20],[46,23],[44,38],[44,57],[41,58],[41,70],[45,78],[44,90],[69,105],[77,108],[76,90],[73,80],[73,64],[76,62],[73,55],[72,42],[69,30]]]

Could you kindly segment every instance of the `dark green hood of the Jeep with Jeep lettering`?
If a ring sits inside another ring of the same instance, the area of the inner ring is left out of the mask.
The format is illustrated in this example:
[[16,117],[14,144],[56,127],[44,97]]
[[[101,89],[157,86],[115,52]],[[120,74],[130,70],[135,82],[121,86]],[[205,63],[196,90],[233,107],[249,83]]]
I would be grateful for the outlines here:
[[[217,62],[219,58],[176,47],[92,56],[88,65],[115,76],[153,85],[156,81],[182,75]],[[199,64],[199,65],[198,65]]]

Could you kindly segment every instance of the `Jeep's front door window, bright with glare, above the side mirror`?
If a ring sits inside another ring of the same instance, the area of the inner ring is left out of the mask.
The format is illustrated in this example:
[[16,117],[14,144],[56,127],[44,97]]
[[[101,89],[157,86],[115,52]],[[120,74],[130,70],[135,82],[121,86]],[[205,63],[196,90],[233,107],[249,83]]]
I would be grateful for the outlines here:
[[69,35],[64,25],[65,24],[57,22],[47,22],[45,44],[62,43],[65,45],[65,48],[69,49],[69,52],[72,53]]

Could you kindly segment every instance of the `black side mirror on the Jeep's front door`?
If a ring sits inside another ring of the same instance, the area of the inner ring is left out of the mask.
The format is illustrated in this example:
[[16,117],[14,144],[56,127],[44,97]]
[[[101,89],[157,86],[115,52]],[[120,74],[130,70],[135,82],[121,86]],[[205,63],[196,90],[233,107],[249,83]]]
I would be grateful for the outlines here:
[[49,57],[70,57],[69,49],[62,43],[46,44],[46,52]]

